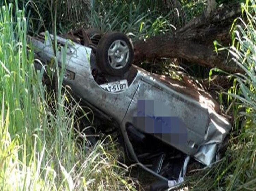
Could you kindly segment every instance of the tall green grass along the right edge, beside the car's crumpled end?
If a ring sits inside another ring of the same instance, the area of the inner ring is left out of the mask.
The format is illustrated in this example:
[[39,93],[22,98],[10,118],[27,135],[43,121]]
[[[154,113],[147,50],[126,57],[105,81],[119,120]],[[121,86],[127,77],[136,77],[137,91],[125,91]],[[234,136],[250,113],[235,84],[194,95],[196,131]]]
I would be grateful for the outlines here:
[[238,85],[229,93],[243,122],[233,129],[221,162],[190,177],[194,190],[256,190],[256,4],[247,0],[241,6],[243,17],[235,21],[228,50],[245,72],[236,75]]

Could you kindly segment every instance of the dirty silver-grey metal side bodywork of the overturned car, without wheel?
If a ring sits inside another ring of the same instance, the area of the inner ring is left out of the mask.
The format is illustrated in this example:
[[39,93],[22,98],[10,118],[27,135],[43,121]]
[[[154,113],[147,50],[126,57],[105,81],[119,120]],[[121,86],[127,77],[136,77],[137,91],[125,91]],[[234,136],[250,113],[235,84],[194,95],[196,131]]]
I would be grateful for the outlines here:
[[[66,42],[66,39],[57,39],[59,43]],[[32,43],[40,59],[49,61],[52,58],[49,41],[43,43],[32,38]],[[75,77],[73,80],[65,79],[64,83],[79,97],[120,124],[126,146],[139,165],[143,167],[129,141],[127,123],[143,133],[153,134],[205,165],[216,161],[216,153],[231,129],[224,117],[143,70],[138,70],[126,91],[107,92],[95,82],[91,73],[91,49],[76,43],[69,43],[68,47],[66,68],[74,72]],[[59,62],[60,54],[57,53]]]

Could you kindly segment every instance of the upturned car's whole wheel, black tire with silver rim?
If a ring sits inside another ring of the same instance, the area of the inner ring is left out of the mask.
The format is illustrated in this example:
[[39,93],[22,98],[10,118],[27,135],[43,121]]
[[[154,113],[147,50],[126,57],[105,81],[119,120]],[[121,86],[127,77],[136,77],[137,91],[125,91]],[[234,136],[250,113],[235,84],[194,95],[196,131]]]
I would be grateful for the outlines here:
[[96,62],[103,73],[122,76],[131,67],[133,56],[131,40],[123,33],[111,32],[99,41]]

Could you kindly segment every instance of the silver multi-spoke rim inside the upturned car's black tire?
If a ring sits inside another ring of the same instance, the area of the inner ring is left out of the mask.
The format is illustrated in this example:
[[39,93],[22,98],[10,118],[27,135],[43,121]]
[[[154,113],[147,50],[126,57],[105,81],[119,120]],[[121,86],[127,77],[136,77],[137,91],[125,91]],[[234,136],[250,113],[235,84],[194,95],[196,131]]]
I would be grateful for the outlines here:
[[114,69],[124,68],[129,60],[129,47],[123,40],[115,40],[108,50],[109,64]]

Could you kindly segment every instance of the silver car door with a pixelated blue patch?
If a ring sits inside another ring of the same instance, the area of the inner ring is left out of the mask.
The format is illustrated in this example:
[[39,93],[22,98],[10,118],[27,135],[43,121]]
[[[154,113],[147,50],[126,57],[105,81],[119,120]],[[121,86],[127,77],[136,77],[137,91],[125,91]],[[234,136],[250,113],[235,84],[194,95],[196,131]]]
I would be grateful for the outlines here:
[[123,122],[193,155],[204,142],[209,117],[200,104],[145,74]]

